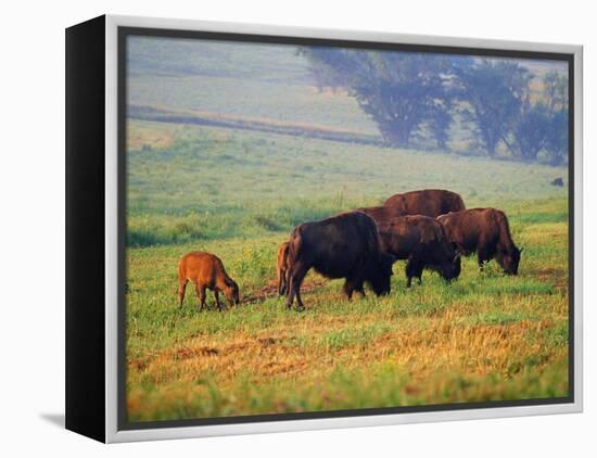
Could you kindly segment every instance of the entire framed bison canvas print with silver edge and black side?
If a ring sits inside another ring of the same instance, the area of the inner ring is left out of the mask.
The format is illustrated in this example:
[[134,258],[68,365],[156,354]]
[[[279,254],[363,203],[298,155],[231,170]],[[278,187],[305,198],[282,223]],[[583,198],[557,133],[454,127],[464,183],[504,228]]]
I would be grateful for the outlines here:
[[66,428],[582,410],[582,48],[66,30]]

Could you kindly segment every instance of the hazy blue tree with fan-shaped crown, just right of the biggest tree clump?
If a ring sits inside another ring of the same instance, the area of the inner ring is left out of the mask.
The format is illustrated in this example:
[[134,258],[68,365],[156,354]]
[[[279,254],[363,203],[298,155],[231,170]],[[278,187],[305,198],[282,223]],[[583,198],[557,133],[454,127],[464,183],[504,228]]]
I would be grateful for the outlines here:
[[532,75],[512,61],[482,59],[457,69],[460,98],[466,101],[463,119],[490,156],[495,156],[499,142],[512,148],[508,137],[529,97]]

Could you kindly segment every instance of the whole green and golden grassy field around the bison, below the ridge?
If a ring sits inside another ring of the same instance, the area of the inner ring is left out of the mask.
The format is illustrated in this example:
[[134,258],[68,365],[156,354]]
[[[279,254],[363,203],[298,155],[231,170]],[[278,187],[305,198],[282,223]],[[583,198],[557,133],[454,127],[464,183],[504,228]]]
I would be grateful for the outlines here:
[[[301,137],[131,122],[127,155],[127,407],[131,421],[539,398],[568,393],[564,168]],[[305,280],[306,311],[275,294],[296,224],[425,187],[496,206],[524,247],[520,275],[465,259],[390,296],[346,302]],[[242,304],[177,307],[178,258],[217,254]]]

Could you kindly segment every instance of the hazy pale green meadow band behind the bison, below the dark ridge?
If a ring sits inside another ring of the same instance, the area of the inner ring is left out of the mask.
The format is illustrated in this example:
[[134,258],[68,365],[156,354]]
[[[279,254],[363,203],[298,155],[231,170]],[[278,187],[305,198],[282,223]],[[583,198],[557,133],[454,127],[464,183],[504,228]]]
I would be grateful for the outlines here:
[[[127,163],[130,246],[288,232],[302,221],[420,188],[452,189],[469,206],[499,206],[513,222],[568,217],[566,206],[554,212],[545,202],[567,196],[549,185],[566,175],[563,167],[218,128],[164,129],[129,123],[136,132],[129,142],[137,147]],[[157,147],[140,148],[143,137]],[[160,148],[164,139],[170,143]],[[524,212],[529,204],[534,212]]]

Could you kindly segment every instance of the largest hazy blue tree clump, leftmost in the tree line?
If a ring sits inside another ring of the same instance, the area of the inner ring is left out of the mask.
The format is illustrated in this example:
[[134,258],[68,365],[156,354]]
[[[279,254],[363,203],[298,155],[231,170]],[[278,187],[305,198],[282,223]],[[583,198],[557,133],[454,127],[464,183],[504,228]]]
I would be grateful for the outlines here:
[[453,117],[450,60],[410,52],[304,48],[321,87],[344,87],[389,145],[408,147],[428,129],[446,147]]

